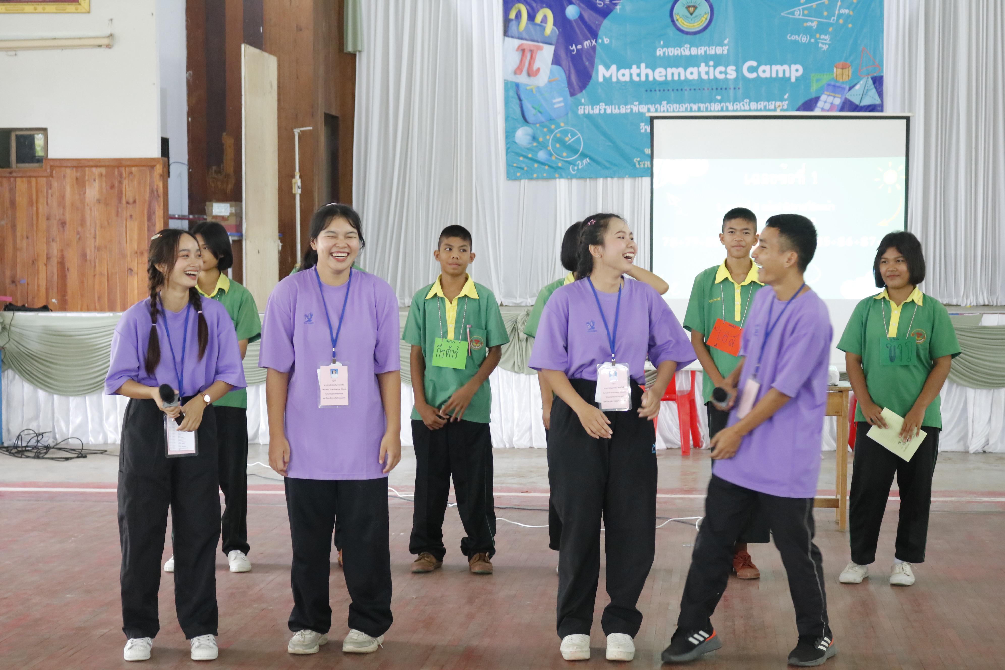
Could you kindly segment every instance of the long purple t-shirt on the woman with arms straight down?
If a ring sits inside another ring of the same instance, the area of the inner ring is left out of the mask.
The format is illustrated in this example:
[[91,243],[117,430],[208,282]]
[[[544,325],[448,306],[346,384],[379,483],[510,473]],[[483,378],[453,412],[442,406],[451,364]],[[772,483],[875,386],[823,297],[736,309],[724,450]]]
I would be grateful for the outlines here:
[[[322,286],[334,332],[349,282]],[[276,284],[265,307],[258,366],[289,373],[286,474],[300,479],[386,477],[378,460],[387,422],[377,375],[400,370],[401,363],[398,298],[380,277],[353,270],[336,354],[349,368],[349,405],[320,408],[318,369],[332,364],[332,339],[318,272],[296,272]]]

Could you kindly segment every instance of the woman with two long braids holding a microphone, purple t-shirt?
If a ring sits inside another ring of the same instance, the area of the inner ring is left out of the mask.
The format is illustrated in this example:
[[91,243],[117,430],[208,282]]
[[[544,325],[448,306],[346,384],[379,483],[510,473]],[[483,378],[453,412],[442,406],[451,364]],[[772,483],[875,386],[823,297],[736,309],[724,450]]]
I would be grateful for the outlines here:
[[[193,660],[217,657],[215,552],[220,538],[216,415],[212,402],[244,388],[234,324],[196,290],[202,258],[188,232],[150,242],[150,297],[127,309],[112,340],[105,392],[130,398],[119,455],[120,582],[127,661],[150,658],[160,630],[157,593],[171,508],[175,610]],[[162,385],[180,405],[165,407]],[[165,417],[196,433],[196,451],[167,449]]]

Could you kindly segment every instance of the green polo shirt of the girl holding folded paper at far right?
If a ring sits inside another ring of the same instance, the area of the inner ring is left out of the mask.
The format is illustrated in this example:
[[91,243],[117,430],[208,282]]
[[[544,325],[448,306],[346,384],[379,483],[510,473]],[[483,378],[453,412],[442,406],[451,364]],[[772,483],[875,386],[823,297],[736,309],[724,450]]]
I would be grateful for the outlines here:
[[[915,406],[925,382],[932,372],[936,359],[960,355],[960,343],[949,318],[949,311],[942,302],[921,291],[912,293],[900,305],[895,337],[914,336],[918,343],[915,362],[910,366],[884,366],[879,358],[883,342],[889,334],[891,302],[886,290],[861,300],[851,312],[837,348],[848,354],[862,357],[865,388],[872,402],[887,407],[891,412],[904,416]],[[878,298],[878,299],[877,299]],[[925,411],[922,426],[942,428],[942,398],[937,396]],[[861,405],[855,410],[855,421],[865,421]]]

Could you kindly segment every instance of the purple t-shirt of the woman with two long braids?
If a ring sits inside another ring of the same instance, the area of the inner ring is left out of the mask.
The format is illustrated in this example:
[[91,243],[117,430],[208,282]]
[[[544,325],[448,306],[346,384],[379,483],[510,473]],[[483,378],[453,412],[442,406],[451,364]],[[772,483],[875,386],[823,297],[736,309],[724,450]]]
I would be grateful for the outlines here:
[[[165,310],[163,306],[160,309],[157,339],[161,346],[161,362],[154,370],[154,375],[148,375],[144,367],[147,345],[150,342],[150,298],[147,298],[124,311],[116,325],[115,334],[112,336],[112,364],[105,378],[105,393],[115,395],[127,380],[146,386],[167,384],[172,389],[178,389],[178,371],[184,378],[185,388],[181,389],[181,395],[185,397],[205,391],[214,382],[226,382],[235,389],[247,386],[234,322],[230,320],[223,304],[202,298],[202,315],[209,329],[209,342],[201,360],[199,318],[195,309],[188,304],[177,313]],[[189,315],[188,331],[185,330],[186,312]],[[172,362],[172,348],[177,369]]]

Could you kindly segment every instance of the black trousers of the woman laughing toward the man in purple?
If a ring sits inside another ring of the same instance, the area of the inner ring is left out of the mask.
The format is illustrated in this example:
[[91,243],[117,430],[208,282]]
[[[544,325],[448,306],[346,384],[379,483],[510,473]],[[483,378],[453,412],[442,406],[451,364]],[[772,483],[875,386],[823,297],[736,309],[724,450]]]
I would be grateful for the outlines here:
[[[595,382],[570,380],[593,403]],[[561,521],[558,634],[590,634],[600,576],[600,522],[607,552],[605,635],[632,637],[642,625],[638,597],[652,568],[656,543],[656,434],[636,413],[642,391],[632,384],[632,408],[608,412],[613,436],[590,437],[561,399],[552,405],[548,481]]]

